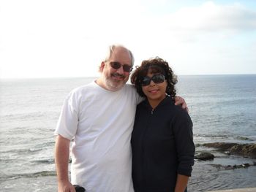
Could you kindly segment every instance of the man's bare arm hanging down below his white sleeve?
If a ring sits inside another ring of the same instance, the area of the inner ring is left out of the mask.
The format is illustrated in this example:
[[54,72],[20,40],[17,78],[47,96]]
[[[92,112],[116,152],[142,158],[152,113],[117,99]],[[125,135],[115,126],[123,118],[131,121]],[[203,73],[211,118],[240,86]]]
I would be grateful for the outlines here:
[[68,166],[69,166],[69,139],[65,139],[58,135],[55,145],[55,165],[58,177],[59,192],[75,192],[75,188],[69,182]]

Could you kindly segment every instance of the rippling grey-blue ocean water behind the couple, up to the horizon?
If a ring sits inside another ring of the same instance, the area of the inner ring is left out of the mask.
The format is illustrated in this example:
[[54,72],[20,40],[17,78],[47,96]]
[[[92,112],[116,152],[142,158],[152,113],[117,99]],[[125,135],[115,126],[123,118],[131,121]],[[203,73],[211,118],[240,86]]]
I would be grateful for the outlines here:
[[[55,130],[69,91],[86,78],[0,81],[0,191],[57,191]],[[178,96],[188,104],[195,145],[256,143],[256,74],[178,76]],[[188,190],[256,187],[256,166],[219,169],[217,164],[253,164],[255,159],[207,147],[212,161],[195,160]]]

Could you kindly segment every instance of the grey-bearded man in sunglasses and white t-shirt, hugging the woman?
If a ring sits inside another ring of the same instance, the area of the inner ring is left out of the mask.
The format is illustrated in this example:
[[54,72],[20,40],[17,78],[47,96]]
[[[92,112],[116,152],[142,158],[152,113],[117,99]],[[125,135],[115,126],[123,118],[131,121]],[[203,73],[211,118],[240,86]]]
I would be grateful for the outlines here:
[[[130,137],[136,105],[142,100],[126,84],[133,64],[131,51],[112,45],[99,67],[99,79],[67,96],[55,131],[59,191],[75,191],[72,184],[89,192],[133,191]],[[184,99],[179,103],[186,107]]]

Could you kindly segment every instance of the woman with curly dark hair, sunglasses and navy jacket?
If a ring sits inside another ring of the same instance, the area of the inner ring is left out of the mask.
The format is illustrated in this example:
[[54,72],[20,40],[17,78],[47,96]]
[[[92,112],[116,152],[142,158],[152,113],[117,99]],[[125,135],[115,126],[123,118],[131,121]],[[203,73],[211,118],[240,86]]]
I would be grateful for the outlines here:
[[145,101],[138,104],[132,131],[135,191],[187,191],[194,164],[192,120],[174,105],[176,76],[161,58],[143,61],[131,77]]

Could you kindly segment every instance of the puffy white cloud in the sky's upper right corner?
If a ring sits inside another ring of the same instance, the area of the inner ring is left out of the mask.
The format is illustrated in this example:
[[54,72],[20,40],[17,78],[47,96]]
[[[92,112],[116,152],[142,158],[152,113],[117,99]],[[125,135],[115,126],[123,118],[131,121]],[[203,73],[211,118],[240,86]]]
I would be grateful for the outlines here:
[[168,28],[195,31],[224,31],[256,29],[256,11],[241,4],[217,5],[212,1],[200,7],[184,7],[164,20]]

